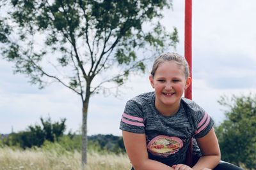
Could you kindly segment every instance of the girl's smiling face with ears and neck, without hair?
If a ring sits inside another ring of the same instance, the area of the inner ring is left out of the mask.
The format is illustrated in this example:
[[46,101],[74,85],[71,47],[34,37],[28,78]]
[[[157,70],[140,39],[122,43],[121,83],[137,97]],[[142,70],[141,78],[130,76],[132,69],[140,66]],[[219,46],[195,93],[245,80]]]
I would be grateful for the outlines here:
[[174,61],[165,61],[157,67],[154,78],[150,76],[150,83],[156,92],[156,106],[179,107],[190,78],[186,79],[184,67]]

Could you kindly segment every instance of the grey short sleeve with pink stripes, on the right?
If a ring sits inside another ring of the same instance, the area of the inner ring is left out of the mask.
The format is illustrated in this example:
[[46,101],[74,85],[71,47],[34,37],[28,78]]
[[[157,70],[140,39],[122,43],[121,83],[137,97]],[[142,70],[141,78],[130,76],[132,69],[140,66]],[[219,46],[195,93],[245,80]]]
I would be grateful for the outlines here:
[[195,138],[204,137],[214,125],[212,118],[202,108],[195,113]]

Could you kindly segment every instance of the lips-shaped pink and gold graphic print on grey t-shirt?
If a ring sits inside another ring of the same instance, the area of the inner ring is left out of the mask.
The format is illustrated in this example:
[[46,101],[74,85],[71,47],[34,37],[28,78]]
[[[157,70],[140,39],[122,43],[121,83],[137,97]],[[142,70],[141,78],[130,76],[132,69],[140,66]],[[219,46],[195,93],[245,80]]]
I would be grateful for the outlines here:
[[156,136],[148,145],[148,152],[159,157],[168,157],[182,148],[183,142],[180,138],[169,136]]

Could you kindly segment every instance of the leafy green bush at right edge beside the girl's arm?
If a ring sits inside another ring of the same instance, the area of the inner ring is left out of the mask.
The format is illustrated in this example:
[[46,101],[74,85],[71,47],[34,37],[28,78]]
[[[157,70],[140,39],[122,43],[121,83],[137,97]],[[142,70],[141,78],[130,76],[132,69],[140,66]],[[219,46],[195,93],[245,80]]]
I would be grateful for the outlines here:
[[221,97],[227,117],[217,127],[221,159],[248,169],[256,167],[256,96]]

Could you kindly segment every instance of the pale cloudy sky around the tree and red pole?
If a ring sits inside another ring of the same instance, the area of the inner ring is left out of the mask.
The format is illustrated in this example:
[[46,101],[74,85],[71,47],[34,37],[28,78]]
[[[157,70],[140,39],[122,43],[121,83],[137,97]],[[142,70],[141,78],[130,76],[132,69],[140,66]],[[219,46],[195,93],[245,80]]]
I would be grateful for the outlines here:
[[[225,119],[218,103],[221,96],[256,94],[256,1],[193,1],[193,100],[220,124]],[[173,0],[161,23],[179,31],[176,50],[184,55],[184,1]],[[24,131],[40,124],[67,118],[67,132],[81,132],[82,104],[79,96],[58,84],[39,90],[22,74],[13,74],[13,63],[0,58],[0,134]],[[150,66],[148,68],[150,70]],[[149,71],[133,76],[121,89],[122,96],[97,94],[90,100],[88,135],[121,136],[120,118],[127,100],[153,89]]]

